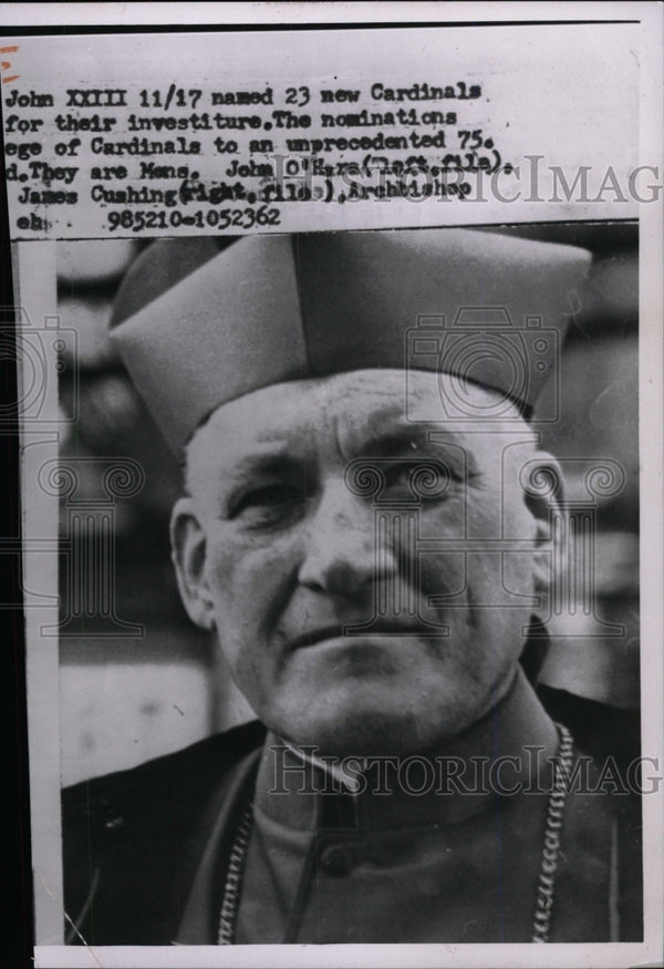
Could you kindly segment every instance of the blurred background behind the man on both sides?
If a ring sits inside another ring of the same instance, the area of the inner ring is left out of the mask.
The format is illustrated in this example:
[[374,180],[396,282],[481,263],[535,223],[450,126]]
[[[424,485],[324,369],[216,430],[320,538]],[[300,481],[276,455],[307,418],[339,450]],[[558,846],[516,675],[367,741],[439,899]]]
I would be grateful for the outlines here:
[[[640,730],[637,228],[509,231],[581,245],[594,257],[563,347],[560,420],[536,425],[544,446],[563,458],[567,501],[596,528],[593,607],[553,618],[540,690],[589,752],[626,757],[639,752]],[[61,379],[61,408],[76,415],[61,461],[77,480],[61,515],[63,784],[132,766],[252,715],[180,606],[168,547],[180,468],[107,340],[115,291],[143,245],[58,243],[61,326],[75,329],[79,342],[77,361],[66,361],[75,367]],[[593,460],[622,467],[618,489],[589,494]],[[111,486],[110,468],[123,462],[129,476],[142,466],[145,480]],[[113,588],[94,585],[93,564],[102,559]]]

